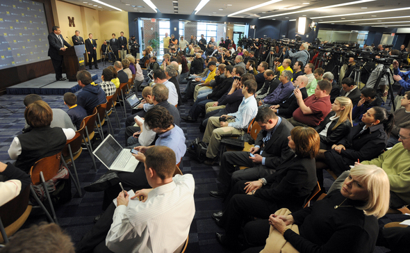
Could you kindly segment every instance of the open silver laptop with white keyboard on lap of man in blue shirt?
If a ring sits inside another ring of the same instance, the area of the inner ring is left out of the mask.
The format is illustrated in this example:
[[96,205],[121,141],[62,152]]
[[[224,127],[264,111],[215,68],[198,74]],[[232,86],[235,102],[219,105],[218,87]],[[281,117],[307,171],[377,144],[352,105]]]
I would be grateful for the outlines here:
[[139,163],[131,154],[130,149],[123,149],[110,134],[95,149],[93,154],[101,163],[106,165],[108,170],[134,172]]

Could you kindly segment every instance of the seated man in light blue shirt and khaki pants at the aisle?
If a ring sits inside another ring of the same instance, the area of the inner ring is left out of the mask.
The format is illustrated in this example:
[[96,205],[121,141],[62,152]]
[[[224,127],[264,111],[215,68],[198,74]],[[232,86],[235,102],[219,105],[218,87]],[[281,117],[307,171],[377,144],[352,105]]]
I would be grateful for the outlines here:
[[213,165],[218,156],[220,149],[220,142],[224,136],[243,136],[244,129],[247,129],[249,122],[256,116],[258,106],[254,93],[256,92],[256,81],[248,80],[243,84],[242,94],[243,102],[240,104],[236,113],[229,113],[222,115],[224,117],[235,117],[229,119],[227,122],[220,122],[219,117],[210,117],[206,125],[203,142],[209,144],[206,151],[206,165]]

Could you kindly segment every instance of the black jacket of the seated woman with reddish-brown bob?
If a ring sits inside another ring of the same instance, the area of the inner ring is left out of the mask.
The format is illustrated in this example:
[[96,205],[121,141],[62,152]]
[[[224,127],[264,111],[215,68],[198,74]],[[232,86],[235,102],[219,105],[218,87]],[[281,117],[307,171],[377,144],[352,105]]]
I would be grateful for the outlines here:
[[265,179],[268,184],[256,190],[255,197],[275,202],[279,208],[286,207],[290,211],[302,209],[318,182],[315,158],[290,156]]

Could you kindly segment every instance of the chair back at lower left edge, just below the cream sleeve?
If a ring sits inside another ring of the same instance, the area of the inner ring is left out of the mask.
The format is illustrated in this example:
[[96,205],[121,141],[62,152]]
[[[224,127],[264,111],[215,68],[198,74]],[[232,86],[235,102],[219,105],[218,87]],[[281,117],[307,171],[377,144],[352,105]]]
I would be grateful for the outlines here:
[[33,206],[28,204],[29,195],[30,186],[27,186],[17,197],[0,206],[0,243],[8,243],[8,237],[13,236],[26,222],[33,209]]

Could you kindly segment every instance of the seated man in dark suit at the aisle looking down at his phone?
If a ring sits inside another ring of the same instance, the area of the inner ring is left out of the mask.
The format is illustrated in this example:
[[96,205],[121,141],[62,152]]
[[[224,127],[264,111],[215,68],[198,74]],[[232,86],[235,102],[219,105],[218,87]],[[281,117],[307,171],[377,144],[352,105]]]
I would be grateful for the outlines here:
[[[255,140],[255,146],[249,152],[224,152],[221,158],[218,181],[222,190],[211,191],[213,197],[224,197],[229,193],[231,181],[256,180],[268,177],[275,169],[294,156],[288,146],[288,136],[293,125],[274,114],[270,108],[261,108],[255,121],[261,126],[261,131]],[[246,166],[247,169],[236,171],[236,166]],[[232,178],[234,175],[234,179]]]

